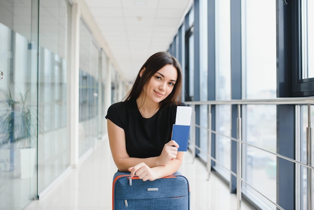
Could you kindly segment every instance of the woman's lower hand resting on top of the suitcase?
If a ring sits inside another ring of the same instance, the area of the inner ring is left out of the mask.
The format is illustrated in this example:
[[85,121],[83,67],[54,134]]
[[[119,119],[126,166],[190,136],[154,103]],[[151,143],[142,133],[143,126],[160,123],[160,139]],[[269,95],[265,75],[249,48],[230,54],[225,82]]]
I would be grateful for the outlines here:
[[148,167],[145,163],[139,163],[133,167],[128,168],[128,170],[131,172],[131,177],[136,175],[143,181],[153,181],[158,178],[158,174],[154,172],[153,168]]

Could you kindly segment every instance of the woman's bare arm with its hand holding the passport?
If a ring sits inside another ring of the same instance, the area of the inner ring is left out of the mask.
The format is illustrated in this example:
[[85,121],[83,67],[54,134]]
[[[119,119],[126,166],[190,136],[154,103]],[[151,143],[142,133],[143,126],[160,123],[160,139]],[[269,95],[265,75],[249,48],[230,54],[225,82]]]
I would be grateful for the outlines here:
[[[158,157],[150,157],[150,158],[130,157],[126,152],[124,130],[118,127],[117,125],[115,125],[109,119],[107,120],[107,128],[108,128],[109,145],[110,145],[112,157],[119,171],[128,171],[130,167],[138,165],[139,163],[142,163],[142,162],[150,168],[153,168],[156,166],[166,166],[168,165],[168,163],[173,162],[173,160],[177,158],[177,150],[178,150],[177,147],[179,145],[174,141],[167,143],[163,149],[162,154]],[[174,163],[171,163],[171,165],[173,164]],[[181,164],[181,161],[180,161],[180,164]],[[179,167],[180,167],[180,164],[179,164]]]

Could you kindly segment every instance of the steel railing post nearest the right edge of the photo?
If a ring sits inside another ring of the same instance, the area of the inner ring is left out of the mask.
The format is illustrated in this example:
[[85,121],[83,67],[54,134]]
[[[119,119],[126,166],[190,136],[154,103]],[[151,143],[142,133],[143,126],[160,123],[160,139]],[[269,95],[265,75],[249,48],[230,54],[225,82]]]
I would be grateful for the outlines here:
[[[312,128],[310,127],[310,104],[307,104],[306,156],[307,165],[312,165]],[[307,209],[312,209],[312,169],[307,168]]]

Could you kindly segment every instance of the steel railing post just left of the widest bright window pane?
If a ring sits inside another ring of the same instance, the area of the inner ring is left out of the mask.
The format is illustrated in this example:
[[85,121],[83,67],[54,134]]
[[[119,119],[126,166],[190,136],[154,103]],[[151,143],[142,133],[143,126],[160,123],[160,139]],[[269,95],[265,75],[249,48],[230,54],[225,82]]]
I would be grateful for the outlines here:
[[238,104],[238,119],[237,119],[237,206],[241,209],[242,196],[242,119],[241,119],[241,104]]

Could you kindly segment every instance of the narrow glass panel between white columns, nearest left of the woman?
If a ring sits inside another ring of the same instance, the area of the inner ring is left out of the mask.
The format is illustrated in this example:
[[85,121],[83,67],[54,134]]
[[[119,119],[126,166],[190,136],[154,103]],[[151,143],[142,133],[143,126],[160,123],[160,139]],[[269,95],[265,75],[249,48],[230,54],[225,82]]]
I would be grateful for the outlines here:
[[100,50],[84,22],[80,22],[79,78],[79,157],[84,155],[98,138],[98,92]]

